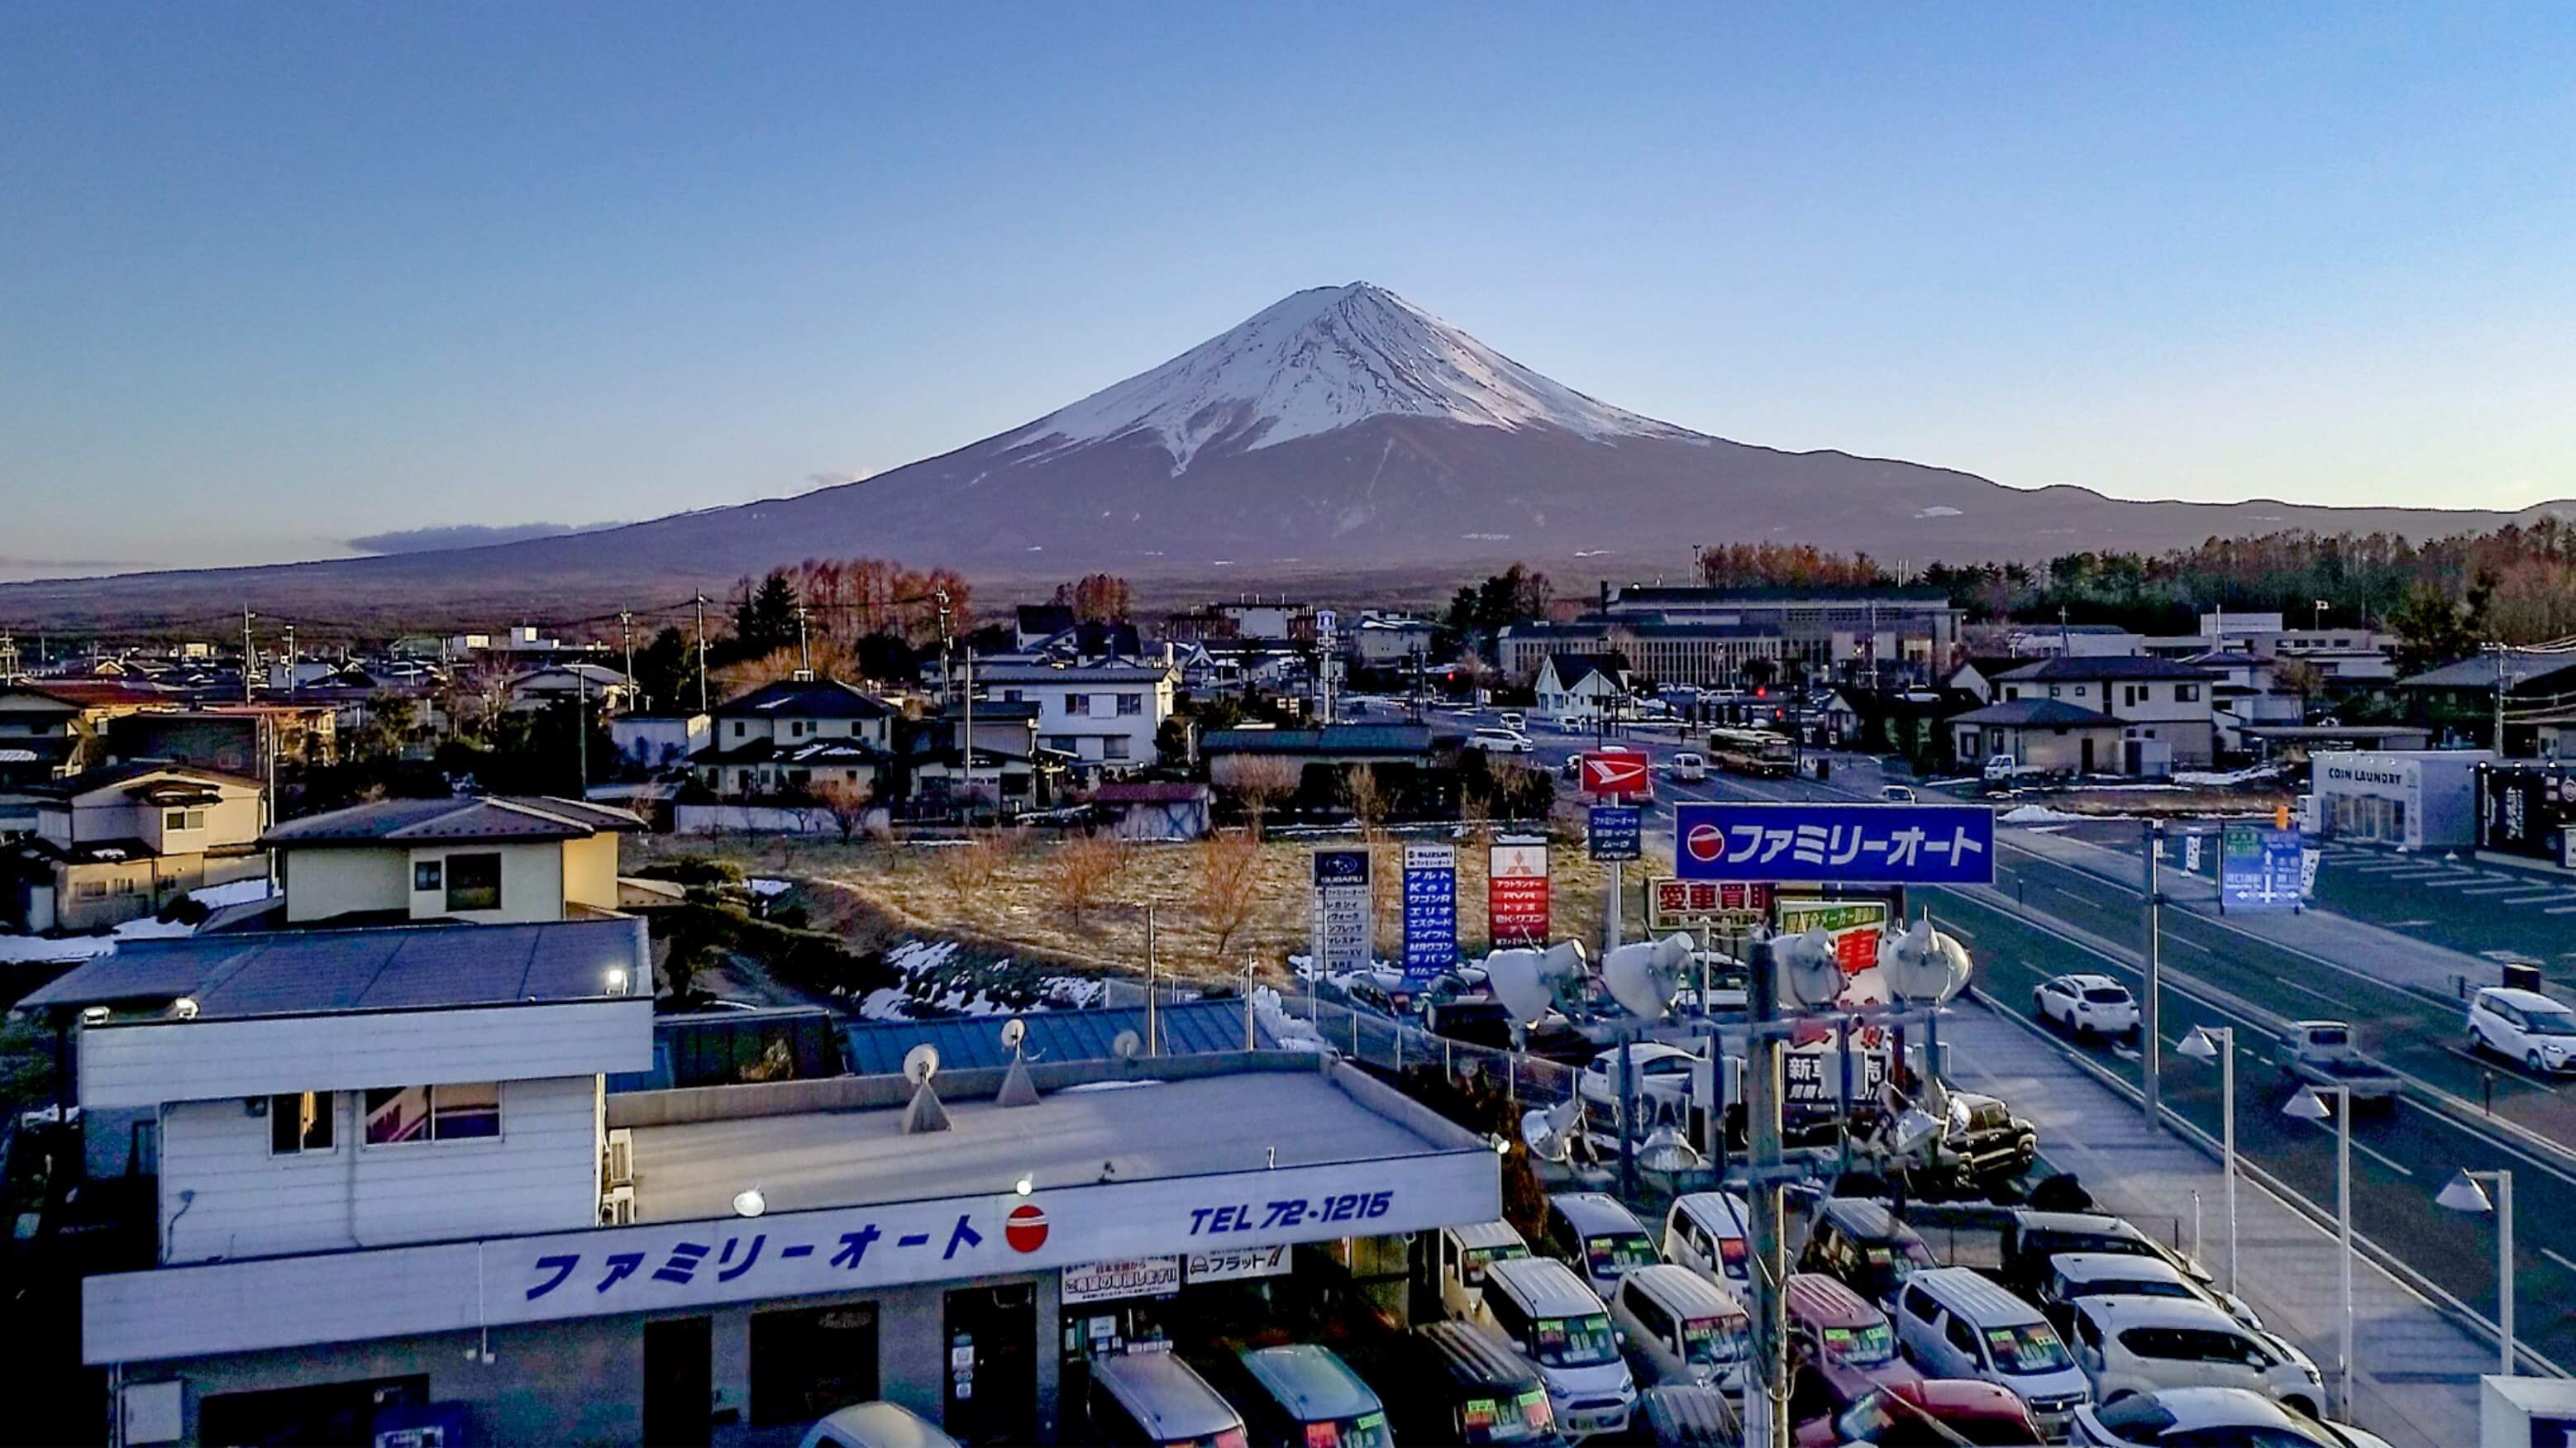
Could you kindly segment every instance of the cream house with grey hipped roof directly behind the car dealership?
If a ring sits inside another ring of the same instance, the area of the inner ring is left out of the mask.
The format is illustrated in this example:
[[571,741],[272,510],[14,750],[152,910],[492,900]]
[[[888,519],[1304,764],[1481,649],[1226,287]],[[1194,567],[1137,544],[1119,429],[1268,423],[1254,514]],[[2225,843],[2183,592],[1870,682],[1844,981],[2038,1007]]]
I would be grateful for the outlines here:
[[278,824],[286,922],[577,920],[618,910],[618,835],[634,812],[482,794],[384,799]]

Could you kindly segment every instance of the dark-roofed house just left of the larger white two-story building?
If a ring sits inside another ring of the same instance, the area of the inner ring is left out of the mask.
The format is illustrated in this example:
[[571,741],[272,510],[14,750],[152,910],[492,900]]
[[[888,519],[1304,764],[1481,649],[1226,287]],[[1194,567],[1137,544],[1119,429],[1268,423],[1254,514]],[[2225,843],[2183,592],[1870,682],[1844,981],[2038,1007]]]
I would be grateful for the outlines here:
[[894,752],[896,709],[832,678],[783,678],[716,706],[716,737],[690,755],[721,799],[876,788]]

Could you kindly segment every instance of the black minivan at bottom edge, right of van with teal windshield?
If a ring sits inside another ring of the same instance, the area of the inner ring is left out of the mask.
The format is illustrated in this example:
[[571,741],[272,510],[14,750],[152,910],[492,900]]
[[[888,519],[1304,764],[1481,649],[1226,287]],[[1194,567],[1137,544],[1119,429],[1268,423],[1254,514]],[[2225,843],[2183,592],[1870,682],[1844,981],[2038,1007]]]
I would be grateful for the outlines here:
[[1564,1443],[1538,1368],[1466,1322],[1427,1322],[1352,1353],[1399,1443]]

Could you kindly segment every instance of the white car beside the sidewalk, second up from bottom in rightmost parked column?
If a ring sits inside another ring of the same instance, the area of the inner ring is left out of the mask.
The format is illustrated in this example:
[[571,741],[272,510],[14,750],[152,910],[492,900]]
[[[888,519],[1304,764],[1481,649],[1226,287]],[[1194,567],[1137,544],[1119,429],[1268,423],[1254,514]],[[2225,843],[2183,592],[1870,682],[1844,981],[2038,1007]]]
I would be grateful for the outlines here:
[[2074,1304],[2071,1348],[2094,1402],[2156,1389],[2251,1389],[2316,1417],[2326,1389],[2313,1363],[2280,1350],[2205,1301],[2087,1296]]

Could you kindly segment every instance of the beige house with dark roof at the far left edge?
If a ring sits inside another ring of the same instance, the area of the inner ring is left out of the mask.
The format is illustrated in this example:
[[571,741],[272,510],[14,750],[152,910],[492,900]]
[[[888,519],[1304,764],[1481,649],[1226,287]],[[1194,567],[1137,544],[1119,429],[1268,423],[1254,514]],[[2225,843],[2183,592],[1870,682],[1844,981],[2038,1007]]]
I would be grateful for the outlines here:
[[31,819],[0,855],[0,920],[21,930],[124,925],[191,889],[268,873],[252,778],[139,760],[0,796]]

